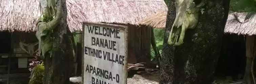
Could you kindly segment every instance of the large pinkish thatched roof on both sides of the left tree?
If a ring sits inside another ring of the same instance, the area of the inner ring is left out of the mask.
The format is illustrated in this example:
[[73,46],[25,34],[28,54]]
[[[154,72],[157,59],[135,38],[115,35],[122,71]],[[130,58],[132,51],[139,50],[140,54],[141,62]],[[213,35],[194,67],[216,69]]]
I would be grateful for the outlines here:
[[[0,0],[0,31],[36,31],[39,0]],[[70,31],[82,22],[135,25],[142,18],[167,10],[163,0],[66,0]]]

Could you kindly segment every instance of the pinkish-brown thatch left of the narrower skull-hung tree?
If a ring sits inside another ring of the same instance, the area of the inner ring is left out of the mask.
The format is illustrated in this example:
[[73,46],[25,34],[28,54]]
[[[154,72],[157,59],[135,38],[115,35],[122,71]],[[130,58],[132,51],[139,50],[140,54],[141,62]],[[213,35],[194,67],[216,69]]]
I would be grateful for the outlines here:
[[35,31],[39,0],[0,0],[0,31]]

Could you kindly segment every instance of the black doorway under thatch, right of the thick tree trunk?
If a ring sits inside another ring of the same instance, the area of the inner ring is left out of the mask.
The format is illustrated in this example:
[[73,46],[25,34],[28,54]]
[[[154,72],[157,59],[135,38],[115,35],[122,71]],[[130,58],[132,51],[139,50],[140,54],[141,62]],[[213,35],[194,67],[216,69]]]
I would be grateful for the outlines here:
[[246,40],[243,35],[223,35],[222,48],[216,77],[223,77],[223,80],[236,81],[243,78],[246,67]]

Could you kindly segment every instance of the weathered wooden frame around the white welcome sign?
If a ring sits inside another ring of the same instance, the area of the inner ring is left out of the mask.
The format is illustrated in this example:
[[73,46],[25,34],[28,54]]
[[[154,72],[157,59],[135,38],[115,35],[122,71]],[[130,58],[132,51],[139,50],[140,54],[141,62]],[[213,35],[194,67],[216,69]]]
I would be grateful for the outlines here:
[[[118,29],[124,31],[124,40],[125,40],[125,63],[124,67],[125,71],[124,75],[126,76],[124,79],[124,83],[127,84],[127,62],[128,62],[128,26],[122,26],[122,25],[113,25],[113,24],[105,24],[105,23],[93,23],[93,22],[83,22],[82,25],[82,31],[83,31],[83,38],[82,38],[82,84],[84,84],[84,72],[85,72],[85,64],[84,64],[84,56],[85,56],[85,45],[84,45],[84,38],[85,38],[85,25],[90,25],[90,26],[98,26],[98,27],[106,27],[106,28],[113,28],[113,29]],[[123,84],[122,82],[119,82],[119,84]]]

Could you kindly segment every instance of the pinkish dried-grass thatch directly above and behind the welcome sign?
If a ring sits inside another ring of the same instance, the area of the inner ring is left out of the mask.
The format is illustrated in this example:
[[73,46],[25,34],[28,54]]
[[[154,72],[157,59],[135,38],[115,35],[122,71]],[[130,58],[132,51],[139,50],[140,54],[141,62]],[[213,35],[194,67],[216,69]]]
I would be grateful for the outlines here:
[[[71,24],[86,21],[135,25],[146,16],[167,10],[164,0],[69,0],[67,5],[76,12],[70,13],[75,17],[68,18],[73,20]],[[81,29],[81,25],[72,26]]]

